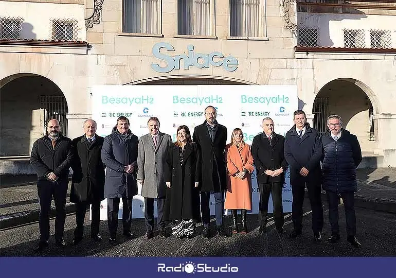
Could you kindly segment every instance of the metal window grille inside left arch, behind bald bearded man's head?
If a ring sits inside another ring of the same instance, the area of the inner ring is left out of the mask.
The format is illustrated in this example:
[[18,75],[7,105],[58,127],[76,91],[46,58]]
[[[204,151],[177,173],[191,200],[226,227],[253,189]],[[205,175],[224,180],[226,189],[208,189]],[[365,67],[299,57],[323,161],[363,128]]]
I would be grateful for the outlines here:
[[64,96],[40,96],[40,126],[42,133],[47,132],[47,123],[50,119],[59,120],[63,135],[67,136],[67,102]]

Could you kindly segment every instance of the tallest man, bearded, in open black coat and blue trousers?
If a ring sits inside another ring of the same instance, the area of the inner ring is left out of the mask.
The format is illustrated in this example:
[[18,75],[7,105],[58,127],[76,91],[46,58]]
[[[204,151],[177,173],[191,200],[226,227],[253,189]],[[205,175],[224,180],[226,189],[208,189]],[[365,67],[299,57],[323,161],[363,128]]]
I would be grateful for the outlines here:
[[214,194],[217,233],[226,236],[223,229],[224,192],[227,188],[224,149],[227,143],[227,128],[216,120],[216,110],[212,106],[205,109],[205,122],[196,126],[193,141],[201,153],[201,213],[204,224],[203,236],[208,238],[210,223],[210,194]]

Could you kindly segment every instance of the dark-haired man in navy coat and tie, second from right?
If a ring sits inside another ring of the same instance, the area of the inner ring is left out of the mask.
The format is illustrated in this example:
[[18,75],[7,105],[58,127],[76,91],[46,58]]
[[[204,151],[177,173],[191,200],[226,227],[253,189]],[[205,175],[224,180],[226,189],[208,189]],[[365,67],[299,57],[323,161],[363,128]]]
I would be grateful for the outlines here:
[[287,131],[284,142],[284,155],[290,165],[290,183],[292,185],[293,204],[292,220],[294,230],[291,237],[302,232],[302,205],[305,185],[312,209],[312,230],[314,240],[322,239],[323,208],[320,193],[321,172],[320,158],[322,147],[319,133],[307,123],[302,110],[294,112],[294,126]]

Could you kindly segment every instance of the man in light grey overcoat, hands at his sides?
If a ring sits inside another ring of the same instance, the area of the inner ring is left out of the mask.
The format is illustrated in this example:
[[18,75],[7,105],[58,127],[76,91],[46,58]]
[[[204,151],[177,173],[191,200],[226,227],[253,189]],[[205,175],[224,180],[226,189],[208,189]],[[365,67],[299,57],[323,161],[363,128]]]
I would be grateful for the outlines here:
[[159,120],[151,117],[147,123],[150,133],[139,139],[137,156],[137,180],[142,186],[141,196],[145,197],[145,238],[153,237],[154,200],[157,202],[157,227],[159,236],[165,238],[164,203],[166,194],[165,167],[171,136],[159,131]]

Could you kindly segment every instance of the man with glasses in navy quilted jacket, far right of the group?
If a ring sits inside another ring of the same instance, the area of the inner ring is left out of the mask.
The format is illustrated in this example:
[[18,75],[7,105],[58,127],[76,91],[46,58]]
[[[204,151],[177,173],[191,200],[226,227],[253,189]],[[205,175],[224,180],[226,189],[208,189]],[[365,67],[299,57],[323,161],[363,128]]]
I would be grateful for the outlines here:
[[339,195],[343,198],[347,221],[347,240],[356,248],[361,244],[356,239],[356,216],[354,192],[357,191],[356,168],[362,162],[362,150],[357,137],[342,128],[343,120],[338,115],[327,118],[329,131],[322,137],[323,189],[329,200],[331,236],[329,242],[340,239],[338,226]]

